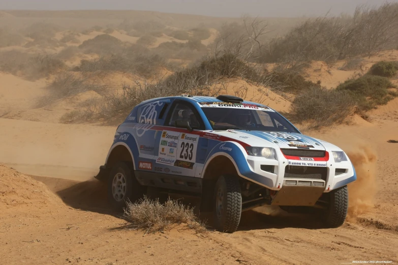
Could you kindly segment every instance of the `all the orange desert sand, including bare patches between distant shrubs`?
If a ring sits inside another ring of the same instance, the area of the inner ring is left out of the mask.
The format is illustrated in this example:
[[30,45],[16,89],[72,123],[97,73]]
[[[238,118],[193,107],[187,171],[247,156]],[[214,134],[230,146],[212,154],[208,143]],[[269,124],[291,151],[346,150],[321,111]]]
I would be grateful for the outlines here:
[[[67,21],[68,26],[77,28],[79,19],[84,16],[93,26],[105,26],[132,14],[136,20],[148,14],[158,15],[157,20],[176,28],[181,28],[181,24],[221,23],[218,18],[209,21],[201,16],[156,12],[131,11],[116,16],[105,11],[83,14],[77,11],[13,11],[0,14],[0,24],[18,22],[15,26],[21,27],[46,18],[62,26]],[[298,20],[286,19],[283,23]],[[202,44],[210,44],[217,30],[211,28],[210,33]],[[80,35],[79,43],[68,46],[76,46],[100,34],[103,32]],[[111,35],[124,42],[135,43],[138,39],[121,30]],[[169,41],[182,42],[163,35],[157,37],[153,47]],[[66,62],[77,65],[79,58]],[[357,73],[363,74],[374,62],[397,58],[396,50],[364,57],[360,67],[349,71],[341,70],[345,61],[334,65],[314,61],[305,70],[305,78],[314,82],[321,80],[322,85],[331,89]],[[170,73],[165,71],[164,75],[167,74]],[[59,122],[63,115],[77,109],[82,102],[102,95],[86,91],[50,106],[36,106],[36,100],[48,93],[46,86],[52,79],[50,76],[27,80],[18,73],[0,73],[0,263],[398,262],[398,144],[387,142],[398,140],[398,98],[369,112],[367,120],[353,116],[332,128],[303,131],[340,146],[354,163],[358,179],[349,185],[349,214],[342,227],[324,229],[312,216],[287,214],[279,207],[261,207],[245,212],[238,231],[233,234],[209,231],[197,235],[183,226],[173,227],[165,233],[145,234],[142,230],[128,229],[120,213],[110,210],[106,187],[94,179],[112,144],[116,126],[101,122]],[[136,79],[132,75],[112,73],[104,77],[104,82],[116,87]],[[396,80],[392,82],[396,83]],[[291,105],[268,88],[240,79],[226,80],[217,86],[223,93],[237,94],[277,111],[287,112]]]

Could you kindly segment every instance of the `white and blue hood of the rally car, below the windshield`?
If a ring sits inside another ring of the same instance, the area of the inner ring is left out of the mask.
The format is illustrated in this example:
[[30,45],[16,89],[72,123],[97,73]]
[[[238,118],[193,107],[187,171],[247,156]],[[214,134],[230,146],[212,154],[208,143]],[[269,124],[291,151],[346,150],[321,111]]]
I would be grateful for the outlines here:
[[297,133],[256,130],[225,130],[212,131],[212,133],[244,142],[250,146],[326,150],[317,139]]

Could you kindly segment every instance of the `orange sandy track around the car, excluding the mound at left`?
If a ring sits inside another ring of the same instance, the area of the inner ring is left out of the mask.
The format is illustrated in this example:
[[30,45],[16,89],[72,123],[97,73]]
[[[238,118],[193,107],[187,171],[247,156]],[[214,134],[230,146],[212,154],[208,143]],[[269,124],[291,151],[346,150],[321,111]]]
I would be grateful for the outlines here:
[[1,144],[5,152],[0,153],[0,161],[14,163],[25,173],[37,170],[42,173],[37,175],[49,176],[35,178],[62,200],[50,208],[24,205],[14,208],[13,214],[7,208],[8,214],[0,215],[2,262],[397,262],[398,145],[387,140],[396,139],[398,122],[395,116],[386,116],[383,109],[372,119],[372,123],[341,125],[323,133],[308,132],[341,146],[359,172],[358,181],[350,187],[351,194],[355,194],[354,201],[350,201],[350,218],[342,227],[323,229],[311,216],[284,215],[262,208],[260,213],[244,213],[236,233],[212,232],[206,237],[179,227],[144,237],[142,231],[124,229],[126,222],[107,207],[105,187],[90,180],[91,172],[103,163],[114,127],[0,119],[0,138],[7,139]]

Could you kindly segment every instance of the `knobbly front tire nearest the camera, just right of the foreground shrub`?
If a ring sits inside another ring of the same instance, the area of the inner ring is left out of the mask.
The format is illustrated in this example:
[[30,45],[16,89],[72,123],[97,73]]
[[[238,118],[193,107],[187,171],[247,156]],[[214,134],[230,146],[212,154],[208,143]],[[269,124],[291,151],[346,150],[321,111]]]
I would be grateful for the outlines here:
[[[222,200],[219,200],[219,191],[223,192]],[[218,203],[219,202],[219,203]],[[238,178],[234,175],[221,176],[215,186],[214,196],[214,226],[225,233],[236,231],[242,213],[242,195]],[[222,205],[221,211],[218,206]]]

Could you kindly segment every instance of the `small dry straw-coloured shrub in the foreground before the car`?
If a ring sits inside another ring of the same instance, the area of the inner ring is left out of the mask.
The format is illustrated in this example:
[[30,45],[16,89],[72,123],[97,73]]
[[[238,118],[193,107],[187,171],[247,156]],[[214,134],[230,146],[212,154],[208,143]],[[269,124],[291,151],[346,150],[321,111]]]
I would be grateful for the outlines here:
[[127,202],[124,217],[130,222],[129,227],[143,229],[146,233],[163,232],[177,225],[185,225],[199,234],[207,231],[193,209],[170,198],[165,204],[146,197],[137,203]]

